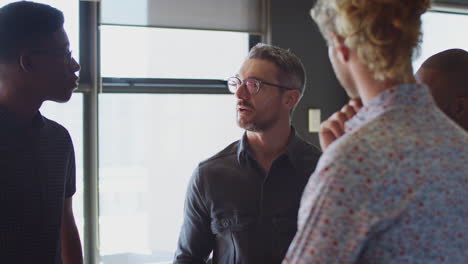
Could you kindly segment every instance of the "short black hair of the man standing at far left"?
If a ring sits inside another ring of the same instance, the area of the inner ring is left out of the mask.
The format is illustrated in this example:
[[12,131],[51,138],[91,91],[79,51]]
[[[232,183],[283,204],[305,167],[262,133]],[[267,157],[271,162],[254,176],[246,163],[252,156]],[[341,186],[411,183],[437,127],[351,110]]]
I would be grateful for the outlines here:
[[0,61],[15,60],[63,23],[62,11],[46,4],[19,1],[0,8]]

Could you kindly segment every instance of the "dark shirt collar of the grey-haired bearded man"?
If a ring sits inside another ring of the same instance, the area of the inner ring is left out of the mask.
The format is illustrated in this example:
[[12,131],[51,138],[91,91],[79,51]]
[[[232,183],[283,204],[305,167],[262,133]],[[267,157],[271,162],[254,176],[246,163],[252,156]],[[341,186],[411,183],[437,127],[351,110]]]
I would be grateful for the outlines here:
[[[291,134],[289,135],[288,146],[285,152],[285,155],[289,157],[290,161],[294,161],[296,158],[300,158],[297,157],[297,155],[301,154],[298,152],[298,149],[304,144],[305,143],[297,135],[296,129],[291,126]],[[247,132],[244,132],[244,135],[239,141],[237,149],[237,160],[242,164],[242,162],[245,161],[248,156],[254,158],[247,140]]]

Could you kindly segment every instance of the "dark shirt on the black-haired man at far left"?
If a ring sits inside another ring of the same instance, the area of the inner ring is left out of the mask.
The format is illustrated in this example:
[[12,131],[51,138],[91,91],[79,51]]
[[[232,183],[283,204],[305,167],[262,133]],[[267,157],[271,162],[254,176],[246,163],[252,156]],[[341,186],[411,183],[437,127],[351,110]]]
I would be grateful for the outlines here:
[[75,190],[68,131],[0,106],[0,263],[62,263],[63,205]]

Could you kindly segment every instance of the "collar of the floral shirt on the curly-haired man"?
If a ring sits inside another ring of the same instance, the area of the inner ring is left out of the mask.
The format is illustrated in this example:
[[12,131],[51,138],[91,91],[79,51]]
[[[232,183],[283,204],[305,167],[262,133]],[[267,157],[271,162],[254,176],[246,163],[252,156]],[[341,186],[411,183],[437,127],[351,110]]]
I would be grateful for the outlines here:
[[405,105],[432,104],[427,86],[402,84],[381,92],[370,100],[357,114],[345,123],[346,132],[357,130],[384,112]]

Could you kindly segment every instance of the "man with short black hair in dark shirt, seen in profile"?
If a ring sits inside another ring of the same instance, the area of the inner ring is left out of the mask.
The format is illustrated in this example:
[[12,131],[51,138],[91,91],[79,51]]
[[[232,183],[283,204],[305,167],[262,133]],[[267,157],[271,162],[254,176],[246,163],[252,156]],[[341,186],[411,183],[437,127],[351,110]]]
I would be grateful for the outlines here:
[[0,8],[0,263],[83,263],[68,131],[38,111],[78,84],[61,11]]

